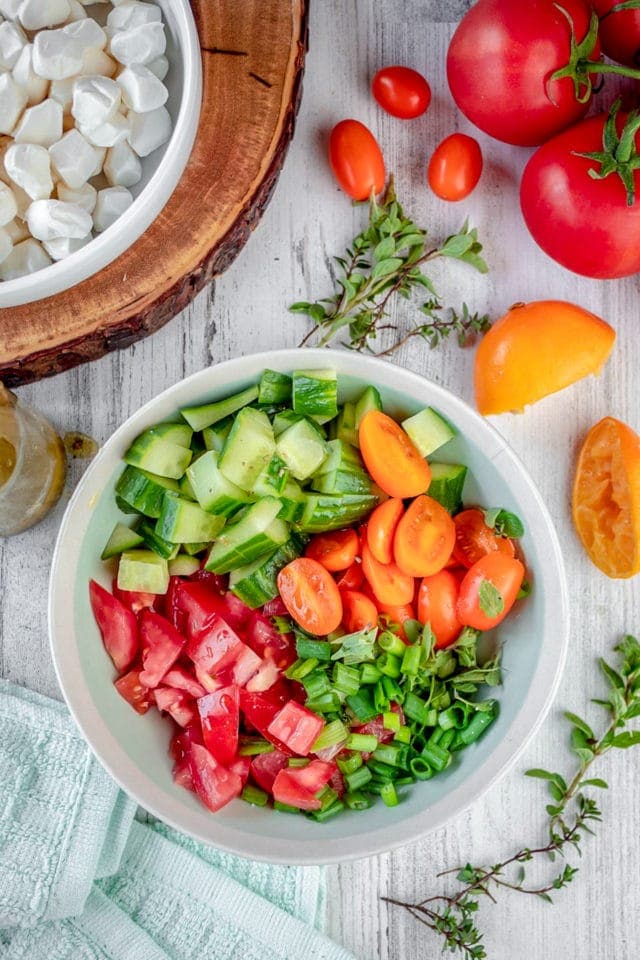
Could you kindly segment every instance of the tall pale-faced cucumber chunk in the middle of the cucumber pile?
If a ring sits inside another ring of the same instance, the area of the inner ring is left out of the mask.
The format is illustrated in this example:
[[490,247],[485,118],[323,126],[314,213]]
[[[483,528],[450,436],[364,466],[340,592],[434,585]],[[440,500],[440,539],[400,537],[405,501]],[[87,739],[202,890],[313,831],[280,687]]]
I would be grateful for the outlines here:
[[261,410],[244,407],[222,448],[220,472],[242,490],[251,490],[276,450],[273,428]]

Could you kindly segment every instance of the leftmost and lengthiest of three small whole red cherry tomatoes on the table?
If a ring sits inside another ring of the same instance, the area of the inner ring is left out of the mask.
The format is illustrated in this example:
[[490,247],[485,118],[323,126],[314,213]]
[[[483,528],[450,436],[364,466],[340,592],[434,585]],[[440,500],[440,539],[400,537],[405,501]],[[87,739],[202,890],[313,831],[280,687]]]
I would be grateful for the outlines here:
[[382,191],[384,159],[378,141],[359,120],[341,120],[329,137],[329,163],[345,193],[368,200]]

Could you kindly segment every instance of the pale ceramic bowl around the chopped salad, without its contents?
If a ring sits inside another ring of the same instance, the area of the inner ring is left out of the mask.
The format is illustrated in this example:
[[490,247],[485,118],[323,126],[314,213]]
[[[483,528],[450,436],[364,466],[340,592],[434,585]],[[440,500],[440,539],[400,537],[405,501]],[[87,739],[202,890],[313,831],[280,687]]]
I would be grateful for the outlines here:
[[[324,824],[241,800],[211,814],[192,793],[176,786],[167,755],[169,724],[155,711],[135,716],[119,697],[89,606],[89,578],[109,585],[100,552],[118,519],[114,484],[134,437],[179,407],[220,399],[255,383],[266,367],[285,372],[335,367],[341,399],[358,396],[373,383],[392,414],[434,406],[458,430],[439,457],[469,467],[466,502],[512,510],[526,528],[522,549],[533,590],[499,628],[505,642],[505,682],[496,694],[496,722],[444,774],[408,788],[400,806],[388,809],[378,803]],[[540,494],[486,420],[442,387],[393,364],[346,351],[282,350],[240,357],[194,374],[138,410],[107,441],[62,521],[51,571],[49,628],[71,712],[99,760],[143,807],[199,840],[246,857],[328,863],[379,853],[441,827],[505,773],[555,693],[567,642],[567,589],[560,547]]]

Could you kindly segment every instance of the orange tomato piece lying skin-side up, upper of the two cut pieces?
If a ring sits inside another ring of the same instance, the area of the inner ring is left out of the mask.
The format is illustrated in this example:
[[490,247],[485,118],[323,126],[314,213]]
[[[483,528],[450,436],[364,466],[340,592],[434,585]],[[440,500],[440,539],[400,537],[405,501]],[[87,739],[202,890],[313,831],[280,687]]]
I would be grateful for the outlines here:
[[572,303],[515,304],[478,346],[474,372],[478,410],[518,412],[598,373],[615,338],[608,323]]

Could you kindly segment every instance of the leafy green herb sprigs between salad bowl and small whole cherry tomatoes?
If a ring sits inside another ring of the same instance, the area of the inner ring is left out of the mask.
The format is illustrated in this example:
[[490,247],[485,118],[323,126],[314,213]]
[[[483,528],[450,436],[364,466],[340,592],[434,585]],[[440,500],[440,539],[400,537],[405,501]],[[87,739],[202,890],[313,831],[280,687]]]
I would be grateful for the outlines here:
[[466,222],[459,233],[447,237],[440,246],[430,245],[426,230],[405,216],[391,179],[380,201],[371,197],[365,230],[353,239],[344,257],[335,258],[339,276],[333,296],[315,303],[300,301],[290,307],[294,313],[306,314],[315,324],[300,346],[314,336],[317,346],[326,346],[346,329],[349,340],[345,346],[372,351],[371,341],[381,331],[397,329],[384,322],[392,299],[397,295],[408,300],[418,289],[429,293],[429,300],[419,307],[426,322],[414,323],[408,333],[382,353],[391,353],[416,336],[435,347],[453,333],[464,346],[475,334],[489,328],[489,318],[471,314],[466,304],[461,312],[449,308],[448,315],[443,316],[440,296],[422,267],[440,257],[449,257],[486,273],[481,253],[477,231]]

